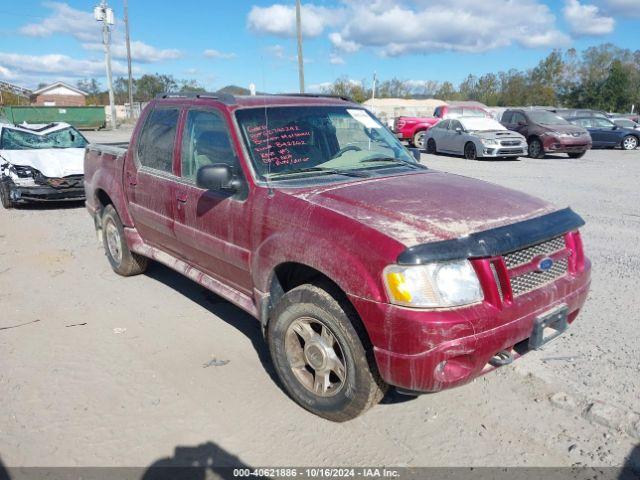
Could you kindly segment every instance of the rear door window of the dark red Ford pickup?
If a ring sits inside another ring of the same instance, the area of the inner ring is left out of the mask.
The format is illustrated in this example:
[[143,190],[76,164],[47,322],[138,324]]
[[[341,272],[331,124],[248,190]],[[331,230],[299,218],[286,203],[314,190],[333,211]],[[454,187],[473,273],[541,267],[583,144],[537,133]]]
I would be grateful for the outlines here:
[[138,140],[137,157],[143,167],[173,173],[179,114],[177,108],[157,108],[149,114]]

